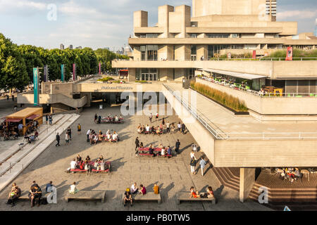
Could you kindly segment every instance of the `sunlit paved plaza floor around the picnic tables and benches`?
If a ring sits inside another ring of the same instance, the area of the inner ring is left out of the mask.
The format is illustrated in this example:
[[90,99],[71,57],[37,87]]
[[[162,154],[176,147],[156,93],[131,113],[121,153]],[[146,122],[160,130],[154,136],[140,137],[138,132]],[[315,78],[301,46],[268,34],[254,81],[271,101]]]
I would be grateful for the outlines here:
[[[29,190],[32,181],[37,181],[40,186],[53,181],[58,188],[58,204],[41,205],[40,207],[30,208],[30,201],[20,201],[15,207],[4,204],[11,186],[6,187],[0,193],[0,210],[270,210],[251,200],[240,203],[239,193],[224,187],[213,169],[208,165],[205,168],[205,176],[201,176],[200,170],[196,175],[190,174],[189,153],[192,143],[195,143],[191,134],[163,134],[161,136],[138,135],[137,125],[149,123],[147,116],[125,117],[124,124],[95,124],[94,114],[101,115],[120,115],[120,107],[105,108],[98,110],[96,106],[85,108],[80,118],[72,125],[73,140],[70,145],[65,145],[65,134],[61,134],[62,145],[58,148],[55,142],[47,148],[42,155],[39,155],[29,167],[27,167],[16,179],[15,182],[21,190]],[[155,121],[154,125],[159,125]],[[179,122],[178,117],[166,116],[165,121]],[[77,124],[82,125],[82,134],[77,134]],[[91,146],[87,143],[87,129],[103,131],[110,129],[117,131],[120,136],[119,143],[98,143]],[[170,145],[175,155],[175,142],[180,139],[181,153],[171,159],[163,158],[141,158],[135,156],[135,139],[139,136],[140,141],[145,146],[152,143],[154,146]],[[3,149],[0,149],[3,150]],[[103,155],[111,161],[111,174],[68,174],[66,169],[70,167],[70,161],[80,154],[82,158],[87,155],[95,160]],[[197,158],[201,153],[196,153]],[[198,166],[198,164],[197,164]],[[79,190],[101,190],[106,191],[106,201],[85,201],[73,200],[66,203],[64,200],[66,193],[74,181],[77,182]],[[123,207],[122,194],[136,182],[137,185],[143,184],[147,191],[152,191],[154,183],[161,187],[162,203],[135,203],[133,207]],[[207,186],[212,186],[215,193],[217,204],[211,203],[181,203],[176,204],[178,191],[189,191],[190,186],[194,186],[198,191],[205,191]]]

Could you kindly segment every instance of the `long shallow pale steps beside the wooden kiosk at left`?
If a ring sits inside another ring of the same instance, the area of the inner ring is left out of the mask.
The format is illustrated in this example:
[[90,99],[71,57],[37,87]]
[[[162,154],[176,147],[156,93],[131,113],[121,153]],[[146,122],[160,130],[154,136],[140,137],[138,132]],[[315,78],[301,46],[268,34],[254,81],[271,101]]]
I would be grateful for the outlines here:
[[56,121],[54,126],[44,129],[39,134],[39,140],[35,144],[25,144],[24,148],[6,151],[2,154],[4,159],[0,165],[0,191],[10,184],[16,176],[23,172],[51,143],[56,141],[56,133],[62,134],[80,115],[61,115],[61,119]]

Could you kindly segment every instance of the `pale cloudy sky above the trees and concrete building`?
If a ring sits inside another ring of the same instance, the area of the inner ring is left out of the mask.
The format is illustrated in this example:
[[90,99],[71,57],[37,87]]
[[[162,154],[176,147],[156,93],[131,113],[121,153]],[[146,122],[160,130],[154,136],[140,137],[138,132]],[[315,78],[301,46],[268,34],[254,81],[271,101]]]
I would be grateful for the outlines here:
[[[15,44],[46,49],[118,50],[133,32],[134,11],[148,11],[154,26],[158,6],[166,4],[192,6],[192,0],[0,0],[0,32]],[[316,18],[316,0],[278,0],[277,20],[297,21],[299,33],[313,32]]]

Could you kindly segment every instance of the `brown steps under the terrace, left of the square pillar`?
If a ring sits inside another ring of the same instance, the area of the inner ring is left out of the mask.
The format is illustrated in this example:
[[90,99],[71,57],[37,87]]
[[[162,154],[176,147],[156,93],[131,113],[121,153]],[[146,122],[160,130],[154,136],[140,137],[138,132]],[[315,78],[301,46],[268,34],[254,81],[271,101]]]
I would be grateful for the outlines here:
[[240,190],[240,177],[233,174],[231,168],[213,167],[213,172],[221,184],[235,191]]

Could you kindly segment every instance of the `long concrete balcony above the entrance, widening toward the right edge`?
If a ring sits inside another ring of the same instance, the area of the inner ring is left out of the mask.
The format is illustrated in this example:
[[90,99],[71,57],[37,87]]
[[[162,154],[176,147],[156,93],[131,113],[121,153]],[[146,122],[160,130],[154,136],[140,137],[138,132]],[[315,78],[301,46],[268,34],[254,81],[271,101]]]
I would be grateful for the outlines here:
[[316,79],[317,61],[113,60],[113,68],[200,68],[263,75],[271,79]]

